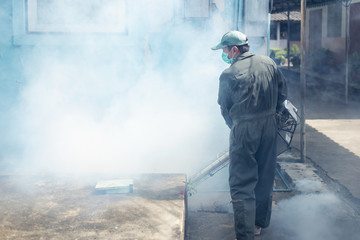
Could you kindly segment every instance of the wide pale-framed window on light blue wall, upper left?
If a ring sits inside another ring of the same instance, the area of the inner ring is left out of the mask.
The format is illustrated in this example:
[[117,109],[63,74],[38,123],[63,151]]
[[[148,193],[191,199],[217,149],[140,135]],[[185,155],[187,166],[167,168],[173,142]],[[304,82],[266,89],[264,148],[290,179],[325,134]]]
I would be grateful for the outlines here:
[[126,0],[27,0],[27,31],[126,32]]

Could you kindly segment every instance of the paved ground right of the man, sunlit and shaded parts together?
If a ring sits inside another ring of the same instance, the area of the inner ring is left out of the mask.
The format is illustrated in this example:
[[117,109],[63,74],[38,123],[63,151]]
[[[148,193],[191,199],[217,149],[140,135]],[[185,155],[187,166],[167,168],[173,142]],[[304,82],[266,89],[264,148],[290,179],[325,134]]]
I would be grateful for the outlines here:
[[[305,99],[307,164],[299,168],[295,156],[295,163],[287,166],[288,172],[298,174],[293,180],[303,178],[296,183],[300,194],[279,202],[263,240],[360,236],[359,95],[351,92],[345,103],[341,86],[310,81]],[[289,79],[289,99],[299,109],[300,89],[298,79]],[[299,128],[292,145],[300,149]],[[313,175],[320,175],[321,181],[309,177]]]

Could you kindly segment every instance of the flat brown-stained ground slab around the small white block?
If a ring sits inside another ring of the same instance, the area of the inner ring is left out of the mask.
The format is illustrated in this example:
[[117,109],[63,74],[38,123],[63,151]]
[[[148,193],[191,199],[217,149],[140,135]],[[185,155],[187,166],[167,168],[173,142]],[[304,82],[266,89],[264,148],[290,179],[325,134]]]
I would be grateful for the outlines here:
[[182,239],[184,175],[142,175],[131,194],[96,181],[0,177],[1,239]]

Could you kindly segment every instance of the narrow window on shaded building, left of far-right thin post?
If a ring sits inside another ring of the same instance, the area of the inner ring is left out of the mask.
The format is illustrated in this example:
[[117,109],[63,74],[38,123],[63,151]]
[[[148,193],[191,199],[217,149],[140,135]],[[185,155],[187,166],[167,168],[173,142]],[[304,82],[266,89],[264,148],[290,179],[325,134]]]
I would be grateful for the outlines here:
[[341,3],[329,5],[328,18],[327,18],[328,37],[341,37],[341,18],[342,18]]

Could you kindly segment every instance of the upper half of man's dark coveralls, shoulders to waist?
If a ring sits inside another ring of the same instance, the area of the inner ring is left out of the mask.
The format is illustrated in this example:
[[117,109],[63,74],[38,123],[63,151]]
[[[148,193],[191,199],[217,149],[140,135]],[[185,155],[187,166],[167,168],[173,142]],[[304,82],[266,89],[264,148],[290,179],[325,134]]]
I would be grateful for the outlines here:
[[265,56],[243,53],[220,76],[218,102],[230,119],[275,113],[285,96],[285,79],[276,64]]

